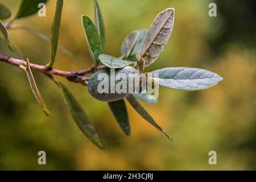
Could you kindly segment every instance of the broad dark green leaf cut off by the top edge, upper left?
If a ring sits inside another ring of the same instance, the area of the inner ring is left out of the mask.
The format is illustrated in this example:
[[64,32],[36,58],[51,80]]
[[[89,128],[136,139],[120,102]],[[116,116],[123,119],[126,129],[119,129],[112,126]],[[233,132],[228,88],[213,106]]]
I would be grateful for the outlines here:
[[47,0],[22,0],[15,18],[24,18],[38,12],[39,3],[46,3]]

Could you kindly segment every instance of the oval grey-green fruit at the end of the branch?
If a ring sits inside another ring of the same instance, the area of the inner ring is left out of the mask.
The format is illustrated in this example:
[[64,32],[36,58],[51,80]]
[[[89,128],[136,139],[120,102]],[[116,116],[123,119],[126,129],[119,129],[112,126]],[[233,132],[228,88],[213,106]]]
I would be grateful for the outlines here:
[[[110,74],[111,72],[114,73]],[[131,66],[122,69],[102,69],[90,77],[88,82],[88,92],[92,97],[102,102],[121,100],[127,96],[129,90],[131,90],[131,92],[135,90],[135,84],[129,85],[129,81],[135,80],[136,73],[138,74],[138,71]],[[121,80],[117,79],[118,76],[122,76]],[[122,85],[123,81],[125,84]],[[120,83],[121,85],[119,85]],[[122,92],[118,93],[116,88],[121,86]]]

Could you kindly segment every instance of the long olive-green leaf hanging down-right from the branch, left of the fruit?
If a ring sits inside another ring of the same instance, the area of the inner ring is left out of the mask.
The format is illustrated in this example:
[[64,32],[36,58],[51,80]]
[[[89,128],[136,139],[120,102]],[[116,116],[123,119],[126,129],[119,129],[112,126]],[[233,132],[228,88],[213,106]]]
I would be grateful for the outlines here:
[[79,105],[75,97],[73,97],[72,93],[69,92],[65,85],[61,82],[58,82],[58,84],[62,91],[65,104],[68,106],[68,110],[71,113],[73,120],[76,122],[76,125],[93,144],[104,149],[104,144],[102,143],[100,136],[92,123],[89,122],[87,115],[84,110],[82,110],[82,107]]

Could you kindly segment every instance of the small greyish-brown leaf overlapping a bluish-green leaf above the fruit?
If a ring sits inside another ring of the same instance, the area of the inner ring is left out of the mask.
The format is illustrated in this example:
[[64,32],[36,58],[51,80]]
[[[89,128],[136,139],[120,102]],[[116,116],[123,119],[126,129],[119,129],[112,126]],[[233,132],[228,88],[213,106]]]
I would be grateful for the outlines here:
[[131,51],[133,51],[133,48],[137,42],[139,36],[139,31],[133,31],[123,41],[121,52],[122,56],[125,57],[125,60],[130,56]]

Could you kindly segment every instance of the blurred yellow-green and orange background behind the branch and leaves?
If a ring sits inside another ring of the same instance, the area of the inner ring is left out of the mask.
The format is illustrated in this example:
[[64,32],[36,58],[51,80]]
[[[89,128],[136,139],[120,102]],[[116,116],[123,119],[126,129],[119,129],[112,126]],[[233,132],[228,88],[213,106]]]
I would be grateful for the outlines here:
[[[20,1],[0,0],[15,15]],[[160,88],[158,105],[143,103],[152,117],[174,138],[170,142],[127,104],[131,136],[122,133],[108,105],[89,96],[87,88],[60,78],[80,101],[104,139],[106,150],[95,147],[68,113],[60,90],[34,72],[51,111],[47,118],[37,104],[26,74],[0,63],[0,169],[38,170],[224,170],[256,169],[256,3],[253,0],[169,1],[98,0],[106,28],[105,53],[120,55],[123,38],[149,28],[155,16],[175,8],[170,42],[148,71],[163,67],[199,67],[224,80],[208,90],[182,92]],[[209,17],[209,3],[217,17]],[[34,27],[49,35],[55,1],[47,16],[19,19],[16,25]],[[55,68],[79,71],[92,65],[81,15],[92,19],[93,1],[64,1],[59,43],[76,55],[58,51]],[[10,30],[10,42],[31,63],[46,64],[50,45],[24,30]],[[2,43],[1,43],[2,44]],[[0,52],[3,52],[1,45]],[[18,57],[17,55],[14,55]],[[38,151],[47,165],[38,165]],[[217,165],[209,165],[209,151]]]

